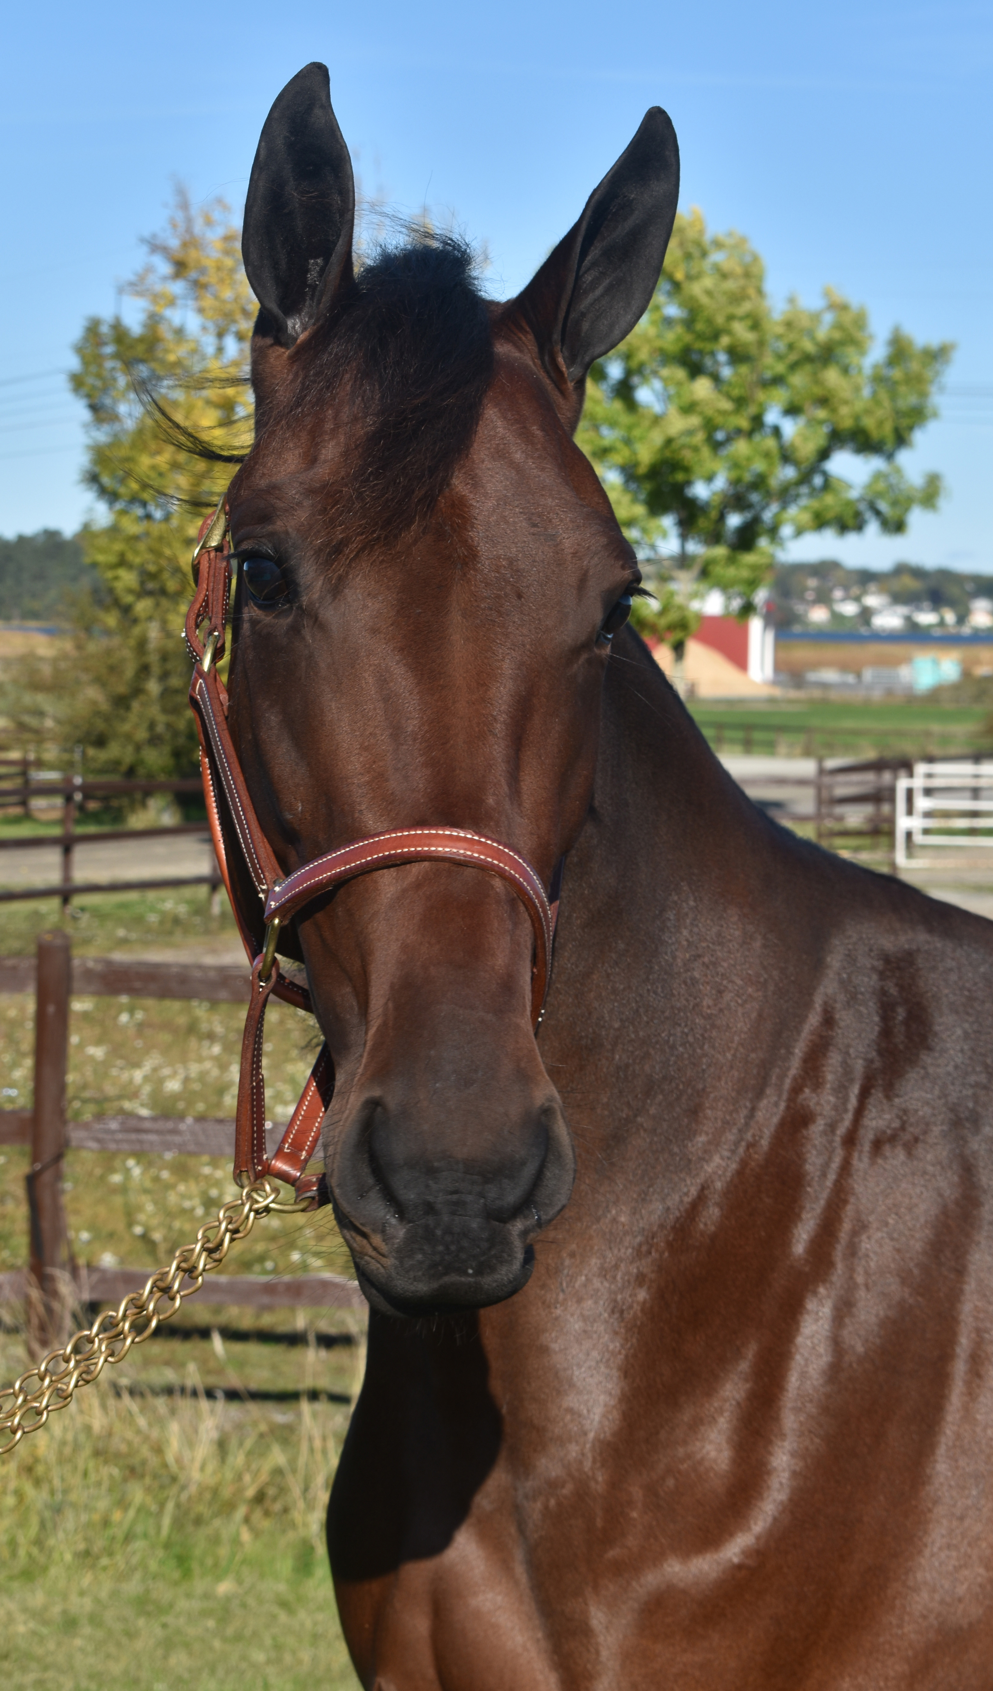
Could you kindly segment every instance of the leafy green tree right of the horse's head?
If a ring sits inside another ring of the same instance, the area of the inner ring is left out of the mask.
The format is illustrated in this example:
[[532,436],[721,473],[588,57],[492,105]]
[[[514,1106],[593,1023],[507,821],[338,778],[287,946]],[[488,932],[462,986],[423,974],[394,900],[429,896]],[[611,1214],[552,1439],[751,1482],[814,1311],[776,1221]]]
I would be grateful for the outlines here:
[[[677,644],[709,587],[748,614],[783,541],[902,534],[934,511],[941,479],[913,482],[897,457],[935,416],[951,355],[895,328],[873,360],[866,311],[832,289],[775,311],[744,237],[680,213],[645,318],[590,372],[577,436],[658,583],[636,622]],[[839,455],[866,460],[864,480]]]

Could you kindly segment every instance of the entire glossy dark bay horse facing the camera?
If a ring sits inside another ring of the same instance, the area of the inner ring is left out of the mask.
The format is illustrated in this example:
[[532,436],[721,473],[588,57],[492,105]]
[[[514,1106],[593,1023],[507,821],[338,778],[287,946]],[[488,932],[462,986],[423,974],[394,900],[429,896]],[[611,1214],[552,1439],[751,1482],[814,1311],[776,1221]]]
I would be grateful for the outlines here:
[[565,862],[536,1035],[506,878],[283,935],[370,1305],[337,1600],[377,1691],[988,1691],[993,927],[763,815],[624,626],[572,435],[677,191],[653,108],[492,303],[453,238],[355,269],[323,66],[252,169],[230,727],[276,857]]

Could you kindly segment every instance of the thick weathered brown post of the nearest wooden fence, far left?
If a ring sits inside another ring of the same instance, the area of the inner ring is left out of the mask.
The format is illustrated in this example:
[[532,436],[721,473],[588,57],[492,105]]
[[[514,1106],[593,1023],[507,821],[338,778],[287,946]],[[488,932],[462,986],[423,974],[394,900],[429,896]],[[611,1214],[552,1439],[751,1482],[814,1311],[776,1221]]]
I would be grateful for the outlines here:
[[69,937],[68,933],[42,933],[37,942],[34,1119],[30,1172],[27,1175],[29,1333],[36,1349],[47,1349],[64,1336],[69,1302],[69,1240],[63,1209],[69,989]]

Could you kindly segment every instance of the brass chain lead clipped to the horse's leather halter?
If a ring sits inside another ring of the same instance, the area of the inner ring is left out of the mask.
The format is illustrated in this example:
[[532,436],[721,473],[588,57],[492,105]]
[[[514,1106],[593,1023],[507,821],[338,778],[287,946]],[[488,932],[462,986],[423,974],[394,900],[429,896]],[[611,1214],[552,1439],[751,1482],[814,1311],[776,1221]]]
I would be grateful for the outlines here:
[[162,1321],[181,1307],[183,1299],[200,1292],[205,1275],[220,1268],[237,1240],[249,1236],[255,1223],[274,1209],[308,1207],[286,1204],[271,1180],[247,1185],[240,1197],[222,1204],[217,1221],[208,1221],[195,1245],[176,1251],[167,1268],[151,1275],[140,1292],[129,1292],[117,1309],[103,1309],[93,1326],[74,1333],[59,1351],[20,1375],[14,1385],[0,1388],[0,1456],[17,1449],[27,1432],[37,1432],[56,1409],[66,1409],[83,1385],[91,1385],[107,1363],[120,1363],[132,1344],[144,1344]]

